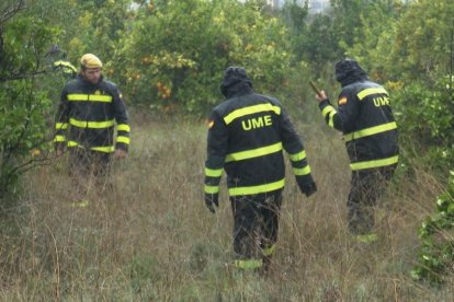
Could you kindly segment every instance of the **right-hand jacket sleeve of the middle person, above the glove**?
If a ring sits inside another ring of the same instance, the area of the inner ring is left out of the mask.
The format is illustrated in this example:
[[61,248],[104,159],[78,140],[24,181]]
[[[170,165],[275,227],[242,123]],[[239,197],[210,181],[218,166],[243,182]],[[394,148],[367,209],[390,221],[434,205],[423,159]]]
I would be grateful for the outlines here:
[[296,133],[285,109],[282,109],[281,138],[284,150],[288,153],[293,174],[298,185],[305,186],[314,183],[303,142]]

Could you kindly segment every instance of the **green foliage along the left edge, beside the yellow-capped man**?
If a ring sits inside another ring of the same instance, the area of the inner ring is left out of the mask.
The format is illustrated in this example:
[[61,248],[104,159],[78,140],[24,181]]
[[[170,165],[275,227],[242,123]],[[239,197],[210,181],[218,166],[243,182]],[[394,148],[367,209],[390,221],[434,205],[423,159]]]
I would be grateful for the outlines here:
[[38,76],[47,72],[42,63],[44,49],[58,34],[42,19],[25,11],[19,14],[23,2],[2,9],[2,16],[14,12],[9,20],[0,20],[0,197],[15,188],[24,171],[44,160],[50,101],[47,90],[37,89]]

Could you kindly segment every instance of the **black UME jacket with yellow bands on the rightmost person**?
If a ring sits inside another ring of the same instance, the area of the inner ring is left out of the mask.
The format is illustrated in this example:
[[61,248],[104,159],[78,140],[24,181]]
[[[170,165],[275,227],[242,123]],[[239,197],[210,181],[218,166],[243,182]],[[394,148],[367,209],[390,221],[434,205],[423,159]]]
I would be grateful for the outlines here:
[[397,124],[383,86],[362,77],[343,86],[337,108],[325,100],[320,111],[343,132],[352,171],[397,164]]

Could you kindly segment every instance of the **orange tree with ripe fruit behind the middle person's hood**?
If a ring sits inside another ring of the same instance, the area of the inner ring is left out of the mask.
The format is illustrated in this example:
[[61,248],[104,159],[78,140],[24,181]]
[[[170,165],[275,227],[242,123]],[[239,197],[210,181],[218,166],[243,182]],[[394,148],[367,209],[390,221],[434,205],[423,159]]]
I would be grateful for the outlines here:
[[234,0],[163,3],[140,10],[117,58],[115,69],[123,70],[135,103],[205,113],[231,65],[245,66],[259,90],[282,90],[291,57],[285,28],[261,7]]

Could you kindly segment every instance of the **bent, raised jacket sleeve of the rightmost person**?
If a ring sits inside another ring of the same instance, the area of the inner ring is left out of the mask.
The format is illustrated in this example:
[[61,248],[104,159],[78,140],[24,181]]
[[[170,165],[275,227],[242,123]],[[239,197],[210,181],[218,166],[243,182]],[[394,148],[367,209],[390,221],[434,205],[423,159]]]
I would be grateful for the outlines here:
[[319,107],[329,127],[343,133],[352,131],[360,109],[356,95],[343,91],[338,98],[338,108],[332,106],[329,100],[321,102]]

